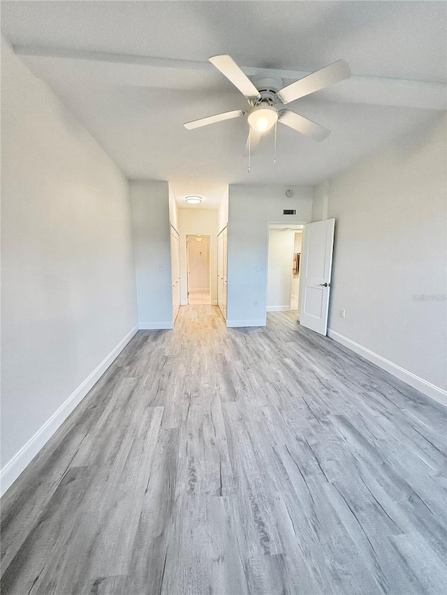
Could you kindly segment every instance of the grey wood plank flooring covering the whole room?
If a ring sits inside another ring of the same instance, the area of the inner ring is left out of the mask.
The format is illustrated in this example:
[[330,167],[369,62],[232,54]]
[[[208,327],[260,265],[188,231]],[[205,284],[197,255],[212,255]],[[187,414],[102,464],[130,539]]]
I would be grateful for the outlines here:
[[3,595],[441,595],[447,410],[272,312],[140,331],[2,499]]

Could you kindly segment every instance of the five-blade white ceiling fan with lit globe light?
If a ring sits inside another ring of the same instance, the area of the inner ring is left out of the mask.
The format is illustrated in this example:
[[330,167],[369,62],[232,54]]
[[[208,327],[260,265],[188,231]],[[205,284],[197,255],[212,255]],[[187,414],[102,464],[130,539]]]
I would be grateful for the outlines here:
[[351,76],[348,63],[344,60],[338,60],[281,89],[282,80],[279,77],[258,75],[253,77],[253,81],[251,81],[230,56],[213,56],[210,58],[210,62],[239,89],[247,98],[252,109],[249,112],[233,110],[223,112],[223,114],[207,116],[206,118],[186,122],[184,127],[192,130],[193,128],[200,128],[200,126],[207,126],[207,124],[247,116],[248,114],[250,132],[246,149],[250,145],[251,151],[256,149],[262,133],[272,128],[277,122],[286,124],[286,126],[298,130],[299,133],[312,137],[314,140],[324,140],[330,134],[330,130],[304,116],[300,116],[300,114],[290,110],[283,110],[282,105],[305,97],[310,93],[315,93],[315,91],[320,91],[330,84],[348,79]]

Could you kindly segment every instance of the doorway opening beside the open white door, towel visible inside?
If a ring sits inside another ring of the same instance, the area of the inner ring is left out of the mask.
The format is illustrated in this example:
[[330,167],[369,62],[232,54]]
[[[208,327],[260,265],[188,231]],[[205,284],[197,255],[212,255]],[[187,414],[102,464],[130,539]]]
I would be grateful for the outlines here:
[[270,225],[267,311],[298,315],[302,225]]

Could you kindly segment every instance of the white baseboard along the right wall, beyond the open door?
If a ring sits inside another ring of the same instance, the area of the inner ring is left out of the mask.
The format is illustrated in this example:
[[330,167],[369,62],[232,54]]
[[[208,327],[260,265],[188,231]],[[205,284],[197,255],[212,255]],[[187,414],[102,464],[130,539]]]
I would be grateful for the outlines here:
[[381,355],[372,352],[370,349],[367,349],[366,347],[362,347],[362,345],[359,345],[355,341],[352,341],[351,339],[348,339],[347,337],[340,335],[336,331],[332,331],[332,329],[328,329],[328,336],[344,345],[344,347],[348,347],[348,349],[351,349],[351,351],[361,355],[368,361],[375,363],[376,366],[379,366],[379,368],[382,368],[382,370],[390,372],[390,374],[393,374],[393,376],[395,376],[396,378],[399,378],[400,380],[403,380],[403,382],[406,382],[406,384],[413,386],[413,389],[416,389],[421,393],[424,393],[425,395],[427,395],[427,397],[430,397],[435,401],[441,403],[441,405],[445,405],[447,407],[447,391],[444,391],[444,389],[440,389],[439,386],[435,386],[431,382],[427,382],[427,380],[424,380],[423,378],[416,376],[412,372],[409,372],[408,370],[405,370],[404,368],[397,366],[397,364],[393,363],[392,361],[385,359]]

